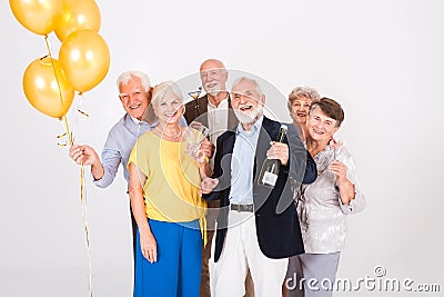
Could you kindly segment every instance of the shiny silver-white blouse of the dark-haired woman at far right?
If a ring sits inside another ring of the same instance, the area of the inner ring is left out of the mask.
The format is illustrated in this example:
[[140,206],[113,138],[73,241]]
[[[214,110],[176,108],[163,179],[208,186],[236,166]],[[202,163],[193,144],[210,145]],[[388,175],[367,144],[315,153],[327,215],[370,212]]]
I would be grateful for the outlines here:
[[[317,166],[317,178],[313,184],[303,185],[296,197],[305,253],[341,251],[345,244],[346,216],[365,207],[355,164],[343,146],[332,149],[329,145],[313,159]],[[347,179],[355,187],[355,198],[347,205],[342,204],[335,175],[329,169],[334,159],[347,167]]]

